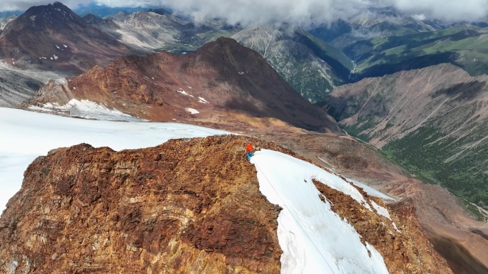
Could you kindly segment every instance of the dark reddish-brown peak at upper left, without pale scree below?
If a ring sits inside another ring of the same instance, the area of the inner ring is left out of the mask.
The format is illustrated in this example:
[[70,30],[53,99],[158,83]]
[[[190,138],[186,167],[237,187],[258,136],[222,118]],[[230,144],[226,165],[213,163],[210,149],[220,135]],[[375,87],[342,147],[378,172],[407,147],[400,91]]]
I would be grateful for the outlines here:
[[81,73],[130,50],[59,2],[33,6],[0,34],[0,56],[16,65]]

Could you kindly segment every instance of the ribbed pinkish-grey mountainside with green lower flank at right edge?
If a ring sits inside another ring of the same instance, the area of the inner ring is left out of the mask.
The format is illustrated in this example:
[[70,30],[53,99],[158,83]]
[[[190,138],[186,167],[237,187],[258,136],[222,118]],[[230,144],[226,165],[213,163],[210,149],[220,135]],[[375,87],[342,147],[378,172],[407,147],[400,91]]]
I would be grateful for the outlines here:
[[336,88],[329,112],[420,179],[488,206],[488,77],[435,65]]

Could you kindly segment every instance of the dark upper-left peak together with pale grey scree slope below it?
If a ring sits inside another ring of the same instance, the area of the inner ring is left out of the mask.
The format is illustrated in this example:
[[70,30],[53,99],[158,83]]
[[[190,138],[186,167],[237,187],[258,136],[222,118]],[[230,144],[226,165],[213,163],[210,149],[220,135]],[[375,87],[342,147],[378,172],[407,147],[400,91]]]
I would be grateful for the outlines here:
[[0,19],[0,106],[19,105],[51,79],[107,65],[128,53],[59,2]]

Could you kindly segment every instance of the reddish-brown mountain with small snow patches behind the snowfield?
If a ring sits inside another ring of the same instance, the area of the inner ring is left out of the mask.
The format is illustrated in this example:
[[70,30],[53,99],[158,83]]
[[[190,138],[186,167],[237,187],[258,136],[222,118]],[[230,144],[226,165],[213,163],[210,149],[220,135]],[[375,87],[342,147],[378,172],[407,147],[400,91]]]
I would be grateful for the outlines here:
[[[34,102],[52,102],[48,97],[56,97],[54,93],[154,121],[208,120],[231,111],[307,130],[339,132],[332,117],[295,93],[258,53],[230,38],[207,43],[195,53],[118,58],[72,78],[67,87],[41,89]],[[188,108],[200,113],[190,115]]]

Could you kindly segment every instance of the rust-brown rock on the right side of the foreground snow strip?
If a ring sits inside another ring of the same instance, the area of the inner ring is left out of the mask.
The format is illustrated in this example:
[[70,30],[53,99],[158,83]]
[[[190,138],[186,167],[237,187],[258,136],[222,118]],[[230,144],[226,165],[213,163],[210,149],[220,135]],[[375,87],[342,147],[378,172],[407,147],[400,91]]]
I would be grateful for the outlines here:
[[[390,273],[452,273],[446,261],[432,248],[415,215],[415,207],[402,202],[390,210],[392,220],[366,209],[347,194],[314,181],[317,189],[331,201],[332,211],[347,219],[357,233],[385,259]],[[363,196],[367,194],[362,189]],[[369,197],[376,204],[387,208],[381,199]],[[374,210],[371,201],[371,209]],[[393,222],[398,226],[395,228]]]

